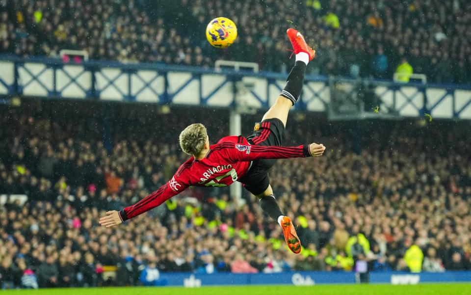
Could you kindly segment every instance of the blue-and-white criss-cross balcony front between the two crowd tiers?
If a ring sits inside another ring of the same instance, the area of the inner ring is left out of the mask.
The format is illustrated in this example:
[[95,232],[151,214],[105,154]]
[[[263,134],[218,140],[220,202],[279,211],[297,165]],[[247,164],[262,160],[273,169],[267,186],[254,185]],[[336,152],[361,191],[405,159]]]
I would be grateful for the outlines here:
[[[235,72],[165,64],[0,56],[0,95],[135,101],[214,107],[267,108],[284,87],[286,74]],[[401,117],[471,118],[471,86],[394,83],[307,76],[296,108],[327,111],[336,83],[367,82],[378,106]]]

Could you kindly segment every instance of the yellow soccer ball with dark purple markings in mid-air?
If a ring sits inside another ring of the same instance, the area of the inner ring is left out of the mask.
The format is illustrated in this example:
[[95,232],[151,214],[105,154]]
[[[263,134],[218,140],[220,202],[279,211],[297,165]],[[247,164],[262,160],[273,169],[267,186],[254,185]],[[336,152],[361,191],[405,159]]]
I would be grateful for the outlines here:
[[231,46],[235,38],[237,38],[237,27],[228,18],[215,18],[206,27],[206,39],[214,47],[226,48]]

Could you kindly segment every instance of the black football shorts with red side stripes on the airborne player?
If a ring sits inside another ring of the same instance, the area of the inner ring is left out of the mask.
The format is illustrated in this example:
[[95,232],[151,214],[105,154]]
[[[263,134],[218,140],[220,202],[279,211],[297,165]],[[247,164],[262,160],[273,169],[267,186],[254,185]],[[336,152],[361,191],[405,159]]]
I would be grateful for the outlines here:
[[[271,118],[256,123],[254,133],[247,137],[247,141],[258,146],[281,146],[285,138],[285,125],[278,118]],[[276,159],[258,159],[239,181],[244,188],[254,195],[261,194],[268,188],[270,178],[268,171],[275,164]]]

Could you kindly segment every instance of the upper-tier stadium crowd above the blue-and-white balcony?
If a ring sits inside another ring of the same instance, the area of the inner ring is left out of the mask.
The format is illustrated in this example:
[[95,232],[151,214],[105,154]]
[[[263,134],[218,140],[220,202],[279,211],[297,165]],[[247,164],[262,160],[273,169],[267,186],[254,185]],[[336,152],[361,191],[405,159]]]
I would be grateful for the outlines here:
[[[204,34],[217,16],[238,26],[224,51]],[[224,58],[284,72],[285,31],[293,26],[316,49],[312,74],[391,79],[405,70],[470,83],[466,0],[1,0],[0,54],[57,57],[74,49],[94,59],[205,67]]]

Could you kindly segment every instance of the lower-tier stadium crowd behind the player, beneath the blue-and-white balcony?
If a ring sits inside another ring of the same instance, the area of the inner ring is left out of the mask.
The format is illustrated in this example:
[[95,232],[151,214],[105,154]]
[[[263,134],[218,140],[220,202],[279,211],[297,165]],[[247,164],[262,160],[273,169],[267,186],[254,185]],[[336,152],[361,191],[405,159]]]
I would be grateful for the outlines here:
[[[328,147],[270,173],[303,243],[294,255],[256,198],[235,202],[227,188],[190,188],[119,227],[98,224],[169,179],[186,158],[184,126],[205,123],[213,142],[226,134],[224,112],[36,101],[0,113],[0,194],[28,196],[0,198],[1,288],[155,285],[173,271],[350,271],[358,261],[370,271],[471,269],[469,125],[293,116],[287,145]],[[258,118],[244,118],[246,134]]]

